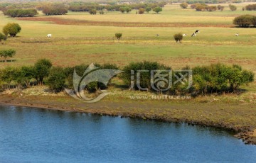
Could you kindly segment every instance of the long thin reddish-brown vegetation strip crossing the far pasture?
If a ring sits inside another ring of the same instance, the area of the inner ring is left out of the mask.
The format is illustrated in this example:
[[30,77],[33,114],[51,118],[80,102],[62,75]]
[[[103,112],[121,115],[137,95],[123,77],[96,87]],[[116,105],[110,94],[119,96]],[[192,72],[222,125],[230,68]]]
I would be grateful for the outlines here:
[[60,25],[76,25],[76,26],[120,26],[120,27],[217,27],[230,28],[228,24],[212,24],[212,23],[144,23],[144,22],[117,22],[117,21],[80,21],[68,20],[64,18],[17,18],[19,21],[48,21]]

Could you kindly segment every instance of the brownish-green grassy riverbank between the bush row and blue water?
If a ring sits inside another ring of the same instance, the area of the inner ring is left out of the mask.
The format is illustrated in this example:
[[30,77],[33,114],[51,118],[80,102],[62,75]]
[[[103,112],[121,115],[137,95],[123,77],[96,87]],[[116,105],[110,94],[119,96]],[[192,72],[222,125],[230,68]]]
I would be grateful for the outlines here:
[[107,98],[97,103],[85,103],[65,94],[61,96],[4,94],[0,96],[0,105],[26,106],[225,128],[226,130],[235,131],[237,133],[235,136],[242,139],[245,144],[256,145],[255,103],[219,100],[198,101],[195,99],[149,101],[122,99],[116,96],[107,96]]

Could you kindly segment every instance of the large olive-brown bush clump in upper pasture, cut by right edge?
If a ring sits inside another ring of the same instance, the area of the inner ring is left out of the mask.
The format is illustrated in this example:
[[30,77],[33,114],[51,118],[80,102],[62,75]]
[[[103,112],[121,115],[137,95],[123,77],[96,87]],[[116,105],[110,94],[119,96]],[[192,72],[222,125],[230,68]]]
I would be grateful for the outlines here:
[[242,28],[249,28],[250,26],[256,27],[256,16],[242,15],[234,18],[233,24]]

